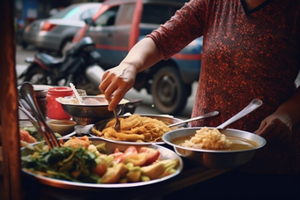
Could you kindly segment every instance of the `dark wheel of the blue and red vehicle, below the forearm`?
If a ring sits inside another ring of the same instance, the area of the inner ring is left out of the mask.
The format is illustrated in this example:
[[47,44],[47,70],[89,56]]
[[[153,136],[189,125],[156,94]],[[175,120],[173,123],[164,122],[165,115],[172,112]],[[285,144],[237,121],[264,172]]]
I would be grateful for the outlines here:
[[176,115],[184,110],[191,94],[191,85],[186,85],[176,68],[163,67],[154,75],[151,89],[154,106],[163,114]]

